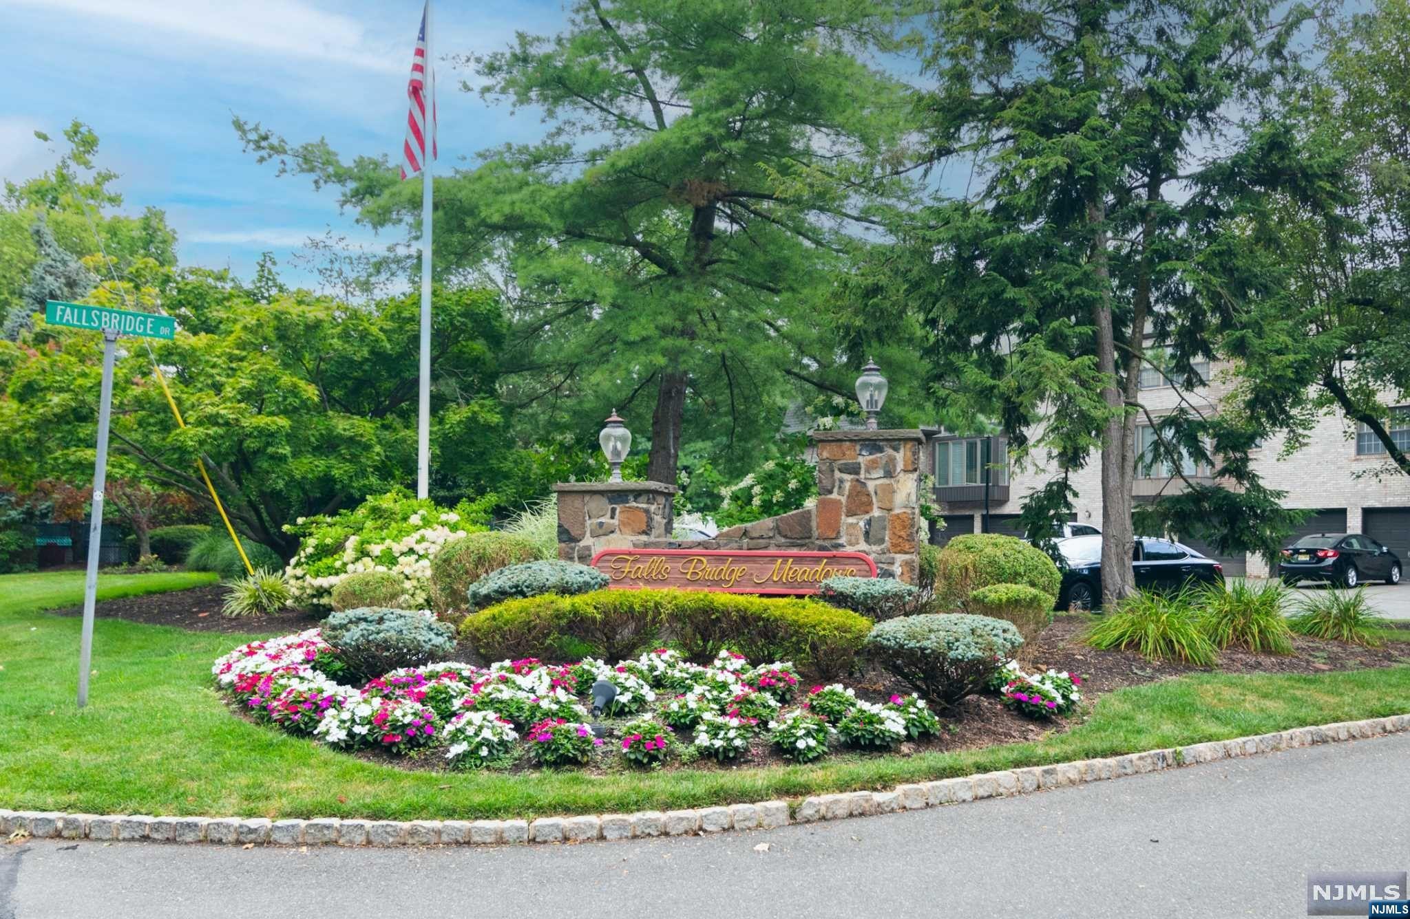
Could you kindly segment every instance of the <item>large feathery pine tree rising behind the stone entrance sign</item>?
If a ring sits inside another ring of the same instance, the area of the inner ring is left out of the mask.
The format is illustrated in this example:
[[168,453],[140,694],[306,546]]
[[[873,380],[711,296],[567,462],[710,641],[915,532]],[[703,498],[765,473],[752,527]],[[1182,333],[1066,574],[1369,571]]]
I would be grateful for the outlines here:
[[[502,280],[520,424],[587,436],[616,407],[647,434],[649,414],[647,475],[674,482],[685,440],[749,465],[797,393],[850,397],[863,348],[887,341],[852,340],[819,304],[909,192],[901,87],[866,62],[894,48],[888,17],[854,0],[574,0],[561,34],[464,59],[486,97],[550,125],[437,178],[437,273]],[[235,125],[374,226],[419,210],[385,159]],[[914,358],[877,357],[902,409]]]

